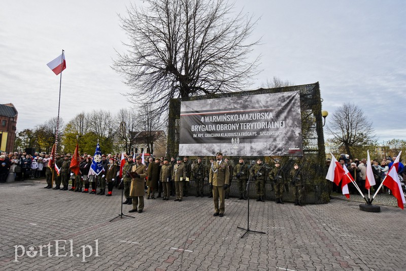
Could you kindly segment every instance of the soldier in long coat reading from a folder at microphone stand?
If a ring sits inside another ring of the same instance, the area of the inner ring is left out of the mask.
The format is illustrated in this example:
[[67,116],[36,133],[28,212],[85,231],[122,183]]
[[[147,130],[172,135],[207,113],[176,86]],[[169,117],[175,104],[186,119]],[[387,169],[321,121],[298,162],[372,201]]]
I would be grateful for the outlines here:
[[131,172],[128,175],[132,178],[130,197],[132,197],[132,210],[129,213],[139,212],[144,210],[144,195],[145,195],[145,178],[148,177],[147,166],[142,163],[141,156],[136,157],[136,164],[132,166]]

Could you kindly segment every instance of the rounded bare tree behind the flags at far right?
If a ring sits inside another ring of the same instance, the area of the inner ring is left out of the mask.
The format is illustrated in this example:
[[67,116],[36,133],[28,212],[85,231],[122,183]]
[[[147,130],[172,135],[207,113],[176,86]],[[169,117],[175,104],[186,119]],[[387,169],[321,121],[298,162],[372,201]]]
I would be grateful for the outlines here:
[[372,122],[354,104],[346,103],[337,108],[327,128],[333,136],[331,142],[344,147],[351,158],[354,151],[376,142]]

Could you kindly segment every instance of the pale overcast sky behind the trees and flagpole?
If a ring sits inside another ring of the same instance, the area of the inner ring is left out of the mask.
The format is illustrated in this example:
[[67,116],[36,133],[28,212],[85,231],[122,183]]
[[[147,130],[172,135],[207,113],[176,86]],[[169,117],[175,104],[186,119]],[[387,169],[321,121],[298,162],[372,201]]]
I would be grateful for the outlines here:
[[[131,107],[111,69],[127,38],[117,14],[129,0],[3,0],[0,3],[0,103],[13,103],[17,130],[57,115],[59,76],[46,65],[65,50],[60,116]],[[295,85],[320,83],[323,110],[351,101],[373,121],[379,142],[406,139],[406,1],[237,0],[260,17],[262,72]],[[331,116],[331,115],[330,115]],[[327,117],[327,124],[328,124]]]

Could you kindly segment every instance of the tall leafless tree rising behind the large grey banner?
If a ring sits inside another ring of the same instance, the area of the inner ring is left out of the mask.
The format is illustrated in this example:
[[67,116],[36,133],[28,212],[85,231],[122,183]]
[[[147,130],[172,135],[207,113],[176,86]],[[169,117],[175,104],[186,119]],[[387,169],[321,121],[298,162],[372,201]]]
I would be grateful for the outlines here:
[[171,98],[243,90],[257,74],[247,41],[256,23],[226,0],[146,0],[119,16],[130,40],[113,69],[129,100],[166,109]]

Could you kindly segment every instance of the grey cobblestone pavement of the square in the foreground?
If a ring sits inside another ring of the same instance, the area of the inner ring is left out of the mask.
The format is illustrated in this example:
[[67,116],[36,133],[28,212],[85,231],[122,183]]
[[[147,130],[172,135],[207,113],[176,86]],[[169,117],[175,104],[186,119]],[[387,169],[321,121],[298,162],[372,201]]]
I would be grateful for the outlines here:
[[225,216],[213,217],[212,198],[146,199],[143,213],[125,205],[134,218],[109,222],[120,214],[121,190],[106,197],[43,187],[0,185],[0,269],[406,270],[406,213],[397,207],[250,200],[249,227],[265,234],[241,239],[246,200],[226,200]]

